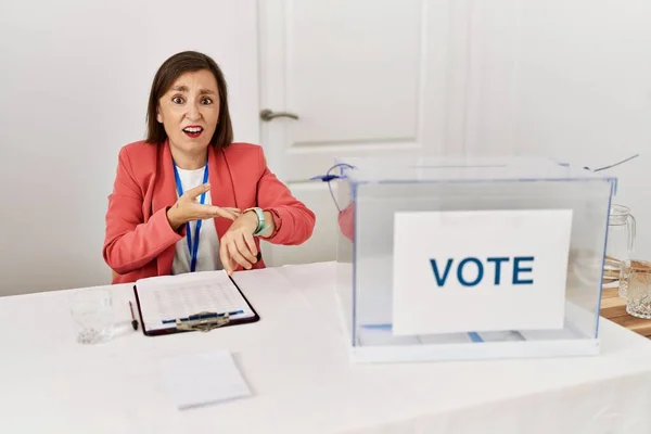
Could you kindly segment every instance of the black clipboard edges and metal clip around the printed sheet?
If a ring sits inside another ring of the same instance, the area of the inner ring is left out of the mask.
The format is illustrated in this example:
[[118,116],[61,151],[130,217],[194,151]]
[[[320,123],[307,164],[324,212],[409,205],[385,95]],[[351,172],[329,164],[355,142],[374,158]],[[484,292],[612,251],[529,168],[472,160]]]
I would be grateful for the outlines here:
[[162,335],[166,335],[166,334],[187,333],[187,332],[193,332],[193,331],[208,332],[210,330],[219,329],[219,328],[224,328],[224,327],[246,324],[246,323],[253,323],[253,322],[259,321],[260,316],[255,310],[253,305],[248,302],[248,298],[246,298],[246,296],[244,295],[244,293],[242,292],[242,290],[240,289],[238,283],[235,283],[235,281],[233,280],[232,277],[229,276],[228,278],[231,281],[231,283],[234,285],[234,288],[238,290],[238,292],[240,293],[242,298],[244,299],[244,303],[246,303],[246,305],[253,312],[252,317],[233,319],[233,318],[230,318],[230,316],[228,314],[201,311],[201,312],[195,314],[196,318],[193,318],[190,320],[177,319],[176,327],[158,329],[158,330],[146,330],[144,318],[142,316],[142,306],[140,304],[140,296],[138,294],[138,285],[135,284],[133,285],[133,296],[136,297],[136,306],[138,308],[138,317],[140,318],[140,324],[142,326],[142,333],[145,336],[162,336]]

